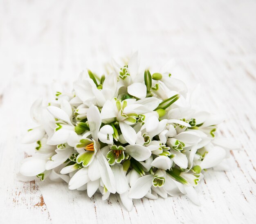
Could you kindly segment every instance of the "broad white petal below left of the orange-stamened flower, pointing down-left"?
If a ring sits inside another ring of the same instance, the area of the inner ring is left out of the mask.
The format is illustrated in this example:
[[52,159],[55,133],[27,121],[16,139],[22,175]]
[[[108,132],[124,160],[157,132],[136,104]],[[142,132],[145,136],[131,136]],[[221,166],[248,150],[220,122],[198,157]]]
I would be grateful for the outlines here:
[[70,190],[77,189],[83,186],[84,184],[86,184],[89,180],[90,179],[88,177],[88,168],[83,167],[82,169],[79,169],[79,171],[77,171],[74,174],[74,176],[72,176],[72,178],[70,179],[69,189]]

